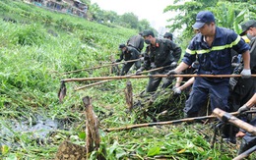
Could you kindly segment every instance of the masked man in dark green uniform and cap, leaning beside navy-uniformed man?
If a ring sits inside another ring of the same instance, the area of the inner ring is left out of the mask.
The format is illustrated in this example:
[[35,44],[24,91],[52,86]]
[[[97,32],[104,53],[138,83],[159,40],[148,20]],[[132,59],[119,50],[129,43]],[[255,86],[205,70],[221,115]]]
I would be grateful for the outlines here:
[[[144,66],[137,71],[137,75],[143,70],[152,70],[164,67],[161,70],[151,72],[151,75],[165,75],[177,62],[181,55],[181,48],[169,39],[156,38],[152,30],[146,29],[143,31],[143,37],[148,44],[144,54]],[[146,92],[153,92],[158,89],[160,81],[163,80],[163,88],[168,87],[172,80],[165,78],[150,78]]]

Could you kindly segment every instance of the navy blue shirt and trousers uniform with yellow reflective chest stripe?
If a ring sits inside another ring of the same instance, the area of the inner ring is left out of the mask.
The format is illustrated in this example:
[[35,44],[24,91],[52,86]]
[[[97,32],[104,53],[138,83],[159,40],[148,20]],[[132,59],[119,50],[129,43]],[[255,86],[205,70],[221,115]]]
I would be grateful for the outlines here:
[[[190,66],[198,57],[199,75],[231,74],[231,49],[244,53],[250,47],[231,29],[216,27],[216,36],[212,46],[198,33],[191,40],[182,61]],[[216,107],[228,111],[228,78],[196,78],[189,99],[184,108],[188,117],[197,116],[210,94],[211,108]]]

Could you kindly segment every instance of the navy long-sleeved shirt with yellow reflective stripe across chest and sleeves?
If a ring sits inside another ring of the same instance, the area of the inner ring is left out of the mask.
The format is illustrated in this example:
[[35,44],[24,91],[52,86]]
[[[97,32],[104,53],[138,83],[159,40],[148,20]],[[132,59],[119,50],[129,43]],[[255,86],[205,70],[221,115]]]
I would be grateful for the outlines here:
[[244,53],[250,46],[234,31],[224,27],[216,27],[216,36],[210,47],[201,33],[191,40],[182,59],[187,65],[199,61],[198,74],[225,75],[231,74],[231,49]]

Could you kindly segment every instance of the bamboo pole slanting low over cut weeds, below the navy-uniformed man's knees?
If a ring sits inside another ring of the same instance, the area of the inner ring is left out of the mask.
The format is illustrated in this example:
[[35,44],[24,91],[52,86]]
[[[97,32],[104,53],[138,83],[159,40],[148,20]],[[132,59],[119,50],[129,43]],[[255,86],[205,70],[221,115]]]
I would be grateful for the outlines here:
[[[238,115],[238,112],[230,113],[231,115]],[[125,126],[121,128],[110,128],[105,129],[105,132],[113,132],[113,131],[126,131],[126,130],[132,130],[137,128],[145,128],[145,127],[153,127],[153,126],[163,126],[163,125],[173,125],[173,124],[180,124],[184,122],[194,122],[198,120],[208,120],[208,119],[215,119],[217,116],[210,115],[210,116],[203,116],[203,117],[194,117],[194,118],[186,118],[186,119],[180,119],[180,120],[173,120],[173,121],[165,121],[165,122],[158,122],[158,123],[146,123],[146,124],[137,124],[137,125],[130,125]]]

